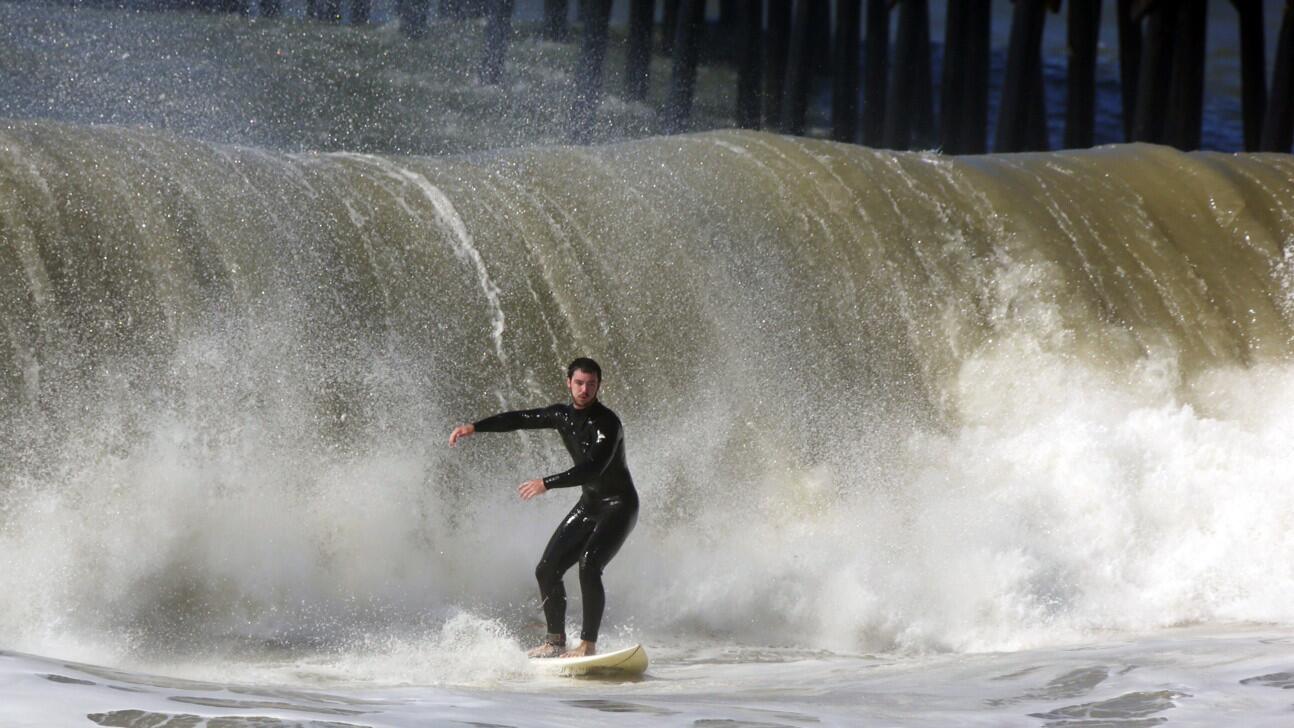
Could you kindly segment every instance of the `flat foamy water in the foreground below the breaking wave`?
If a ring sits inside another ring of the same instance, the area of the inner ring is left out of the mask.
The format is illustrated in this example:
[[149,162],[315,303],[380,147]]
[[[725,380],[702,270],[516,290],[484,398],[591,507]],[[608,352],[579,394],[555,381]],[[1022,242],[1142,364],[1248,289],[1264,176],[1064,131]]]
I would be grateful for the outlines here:
[[615,683],[531,674],[512,650],[518,645],[503,641],[453,650],[462,663],[450,685],[391,680],[392,669],[419,672],[449,662],[431,650],[383,659],[386,678],[373,681],[365,665],[342,659],[261,666],[252,671],[258,683],[4,653],[0,720],[137,728],[1277,727],[1289,724],[1291,644],[1289,631],[1178,630],[1068,649],[923,658],[663,649],[647,678]]

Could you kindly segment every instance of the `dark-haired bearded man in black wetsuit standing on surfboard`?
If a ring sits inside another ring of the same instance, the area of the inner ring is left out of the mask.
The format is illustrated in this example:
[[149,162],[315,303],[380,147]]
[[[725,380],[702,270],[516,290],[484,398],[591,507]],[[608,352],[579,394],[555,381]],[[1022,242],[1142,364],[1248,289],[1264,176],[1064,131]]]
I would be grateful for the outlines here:
[[[558,524],[549,539],[534,577],[547,635],[531,657],[585,657],[597,653],[598,628],[606,605],[602,570],[625,542],[638,521],[638,491],[625,463],[624,432],[620,418],[598,401],[602,367],[580,357],[567,367],[571,403],[538,410],[502,412],[461,424],[449,434],[449,446],[476,432],[516,429],[556,429],[575,466],[518,486],[521,500],[542,495],[554,487],[581,486],[575,508]],[[580,562],[580,595],[584,597],[584,626],[580,647],[565,649],[565,586],[562,575]]]

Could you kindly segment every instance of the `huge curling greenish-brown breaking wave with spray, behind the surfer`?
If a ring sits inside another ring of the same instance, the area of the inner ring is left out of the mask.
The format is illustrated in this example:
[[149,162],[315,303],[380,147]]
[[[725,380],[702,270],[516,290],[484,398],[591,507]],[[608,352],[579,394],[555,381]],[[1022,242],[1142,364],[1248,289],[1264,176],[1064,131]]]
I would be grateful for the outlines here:
[[1288,625],[1291,193],[1288,156],[1146,146],[430,159],[9,124],[0,644],[512,649],[575,495],[514,487],[564,454],[444,440],[559,400],[577,354],[644,506],[608,639]]

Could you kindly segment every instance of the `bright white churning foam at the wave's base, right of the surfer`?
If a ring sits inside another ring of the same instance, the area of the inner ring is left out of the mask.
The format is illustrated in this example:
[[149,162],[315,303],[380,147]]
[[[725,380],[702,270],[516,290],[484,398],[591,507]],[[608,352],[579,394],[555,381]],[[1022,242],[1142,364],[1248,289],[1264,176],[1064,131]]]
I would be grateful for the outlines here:
[[[648,522],[635,538],[650,548],[626,548],[608,577],[642,574],[616,579],[620,601],[643,605],[639,628],[978,652],[1294,623],[1294,367],[1188,385],[1171,356],[1114,371],[1003,340],[961,374],[961,427],[833,442],[813,469],[734,482],[713,453],[682,449],[713,495],[682,522]],[[652,434],[646,482],[678,467]],[[893,450],[880,464],[879,447]]]

